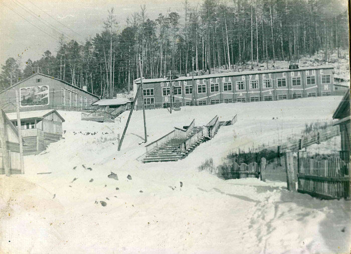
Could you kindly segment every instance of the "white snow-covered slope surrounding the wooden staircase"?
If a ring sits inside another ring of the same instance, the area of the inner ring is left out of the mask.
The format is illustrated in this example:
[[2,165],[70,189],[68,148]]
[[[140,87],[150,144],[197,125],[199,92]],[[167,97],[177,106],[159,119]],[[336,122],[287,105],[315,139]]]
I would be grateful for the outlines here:
[[0,175],[0,252],[349,253],[350,201],[198,170],[206,159],[217,166],[230,151],[277,144],[305,123],[332,120],[341,98],[147,110],[148,143],[193,118],[196,126],[215,115],[238,121],[183,160],[145,164],[136,160],[145,152],[142,111],[133,112],[119,152],[129,112],[121,123],[95,123],[59,111],[65,139],[25,157],[24,175]]

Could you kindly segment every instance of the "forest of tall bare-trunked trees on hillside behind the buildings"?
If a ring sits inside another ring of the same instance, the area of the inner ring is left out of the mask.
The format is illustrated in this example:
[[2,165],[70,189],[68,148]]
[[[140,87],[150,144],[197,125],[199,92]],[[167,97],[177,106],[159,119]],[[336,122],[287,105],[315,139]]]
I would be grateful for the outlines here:
[[24,70],[9,58],[2,66],[0,89],[39,72],[59,78],[103,98],[132,89],[145,78],[213,72],[234,65],[295,61],[322,50],[348,48],[347,7],[342,0],[204,0],[183,3],[182,13],[168,11],[155,20],[145,6],[117,33],[116,10],[109,10],[102,32],[84,45],[58,42],[56,55],[45,51],[28,59]]

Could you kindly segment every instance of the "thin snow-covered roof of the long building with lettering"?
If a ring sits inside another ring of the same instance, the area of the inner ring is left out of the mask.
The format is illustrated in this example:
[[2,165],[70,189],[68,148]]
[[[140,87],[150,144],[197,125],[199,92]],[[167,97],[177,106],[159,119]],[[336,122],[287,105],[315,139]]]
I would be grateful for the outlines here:
[[[333,69],[334,67],[331,65],[322,65],[322,66],[309,66],[309,67],[300,67],[295,70],[290,69],[268,69],[262,71],[244,71],[244,72],[224,72],[224,73],[214,73],[214,74],[205,74],[194,76],[194,79],[208,79],[208,78],[221,78],[221,77],[229,77],[229,76],[242,76],[242,75],[255,75],[255,74],[265,74],[265,73],[278,73],[278,72],[293,72],[293,71],[308,71],[308,70],[317,70],[317,69]],[[172,81],[183,81],[183,80],[192,80],[193,76],[189,77],[179,77],[177,79],[173,79]],[[142,83],[157,83],[169,81],[168,79],[143,79]],[[134,80],[135,83],[140,83],[140,78]]]

